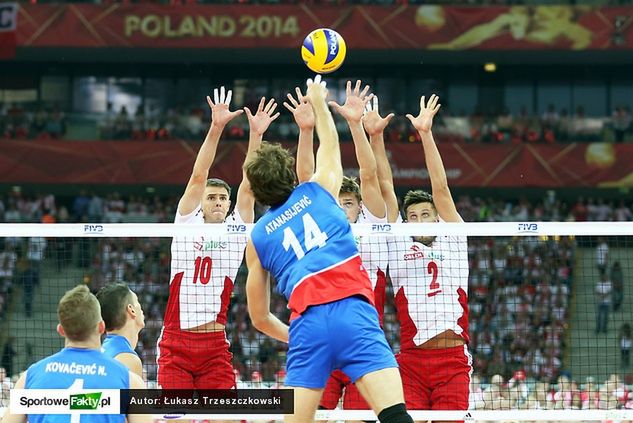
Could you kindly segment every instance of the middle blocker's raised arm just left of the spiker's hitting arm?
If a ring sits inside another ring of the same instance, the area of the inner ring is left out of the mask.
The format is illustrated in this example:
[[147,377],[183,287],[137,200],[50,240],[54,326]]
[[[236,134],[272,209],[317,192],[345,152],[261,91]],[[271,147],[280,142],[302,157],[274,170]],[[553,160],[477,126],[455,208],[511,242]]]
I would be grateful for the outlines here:
[[308,100],[295,88],[297,98],[288,94],[290,104],[284,102],[299,127],[299,143],[297,145],[297,179],[299,183],[309,181],[314,175],[314,111]]

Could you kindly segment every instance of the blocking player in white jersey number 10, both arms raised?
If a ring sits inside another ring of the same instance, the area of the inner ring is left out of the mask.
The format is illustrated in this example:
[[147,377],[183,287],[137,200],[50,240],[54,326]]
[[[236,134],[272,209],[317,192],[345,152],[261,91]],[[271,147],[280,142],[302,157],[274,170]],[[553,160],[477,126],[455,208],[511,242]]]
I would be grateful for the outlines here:
[[[198,152],[193,172],[178,204],[175,223],[252,223],[255,200],[243,176],[234,211],[230,186],[207,179],[218,141],[226,124],[242,113],[229,111],[231,90],[214,90],[211,126]],[[259,148],[262,136],[279,113],[273,99],[262,98],[253,115],[244,108],[250,125],[248,152]],[[235,375],[224,326],[233,283],[242,263],[245,236],[177,237],[171,246],[171,284],[164,327],[158,340],[158,384],[163,389],[229,389]]]

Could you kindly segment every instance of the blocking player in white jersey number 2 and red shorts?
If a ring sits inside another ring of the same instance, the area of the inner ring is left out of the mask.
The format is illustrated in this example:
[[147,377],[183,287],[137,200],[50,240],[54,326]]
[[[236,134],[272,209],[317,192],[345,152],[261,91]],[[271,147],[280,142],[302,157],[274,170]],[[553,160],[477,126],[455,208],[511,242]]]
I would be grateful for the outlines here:
[[[407,115],[422,138],[432,195],[409,191],[406,221],[462,222],[448,188],[431,126],[438,97]],[[398,364],[407,408],[467,410],[472,358],[468,353],[468,252],[465,236],[422,236],[389,243],[401,351]]]

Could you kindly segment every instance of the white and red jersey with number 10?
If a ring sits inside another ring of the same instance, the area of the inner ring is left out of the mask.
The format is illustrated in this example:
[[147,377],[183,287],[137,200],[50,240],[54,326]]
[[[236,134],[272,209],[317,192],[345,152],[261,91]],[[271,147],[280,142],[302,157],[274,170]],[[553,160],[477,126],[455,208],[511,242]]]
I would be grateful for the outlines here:
[[[237,209],[226,217],[226,223],[244,223]],[[198,206],[188,215],[176,212],[174,223],[203,224],[202,209]],[[171,287],[170,295],[178,295],[178,316],[169,315],[165,326],[178,319],[180,329],[190,329],[217,321],[226,324],[226,313],[233,292],[233,283],[244,257],[248,238],[231,236],[174,237],[171,244],[171,283],[178,280],[177,292]],[[170,299],[170,302],[173,299]]]

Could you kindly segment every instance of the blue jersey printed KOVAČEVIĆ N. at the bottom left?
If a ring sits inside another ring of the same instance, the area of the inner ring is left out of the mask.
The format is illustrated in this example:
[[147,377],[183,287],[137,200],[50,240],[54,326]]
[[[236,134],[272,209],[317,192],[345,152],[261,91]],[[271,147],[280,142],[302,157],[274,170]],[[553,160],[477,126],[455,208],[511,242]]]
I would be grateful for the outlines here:
[[[31,365],[26,372],[26,389],[129,389],[130,371],[101,351],[64,348]],[[29,414],[29,423],[69,423],[67,414]],[[122,414],[91,414],[81,422],[123,423]]]

